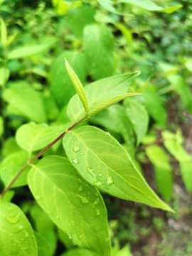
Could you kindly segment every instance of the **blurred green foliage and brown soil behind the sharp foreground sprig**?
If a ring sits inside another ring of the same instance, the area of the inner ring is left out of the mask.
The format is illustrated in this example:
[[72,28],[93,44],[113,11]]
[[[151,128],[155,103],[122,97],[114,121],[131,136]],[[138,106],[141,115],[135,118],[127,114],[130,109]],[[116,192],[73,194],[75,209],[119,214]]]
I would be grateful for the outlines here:
[[[89,123],[124,146],[176,213],[103,194],[112,253],[192,255],[192,3],[167,0],[164,7],[182,7],[161,12],[118,1],[103,8],[101,2],[0,1],[1,191],[28,159],[16,142],[22,124],[34,122],[43,132],[48,124],[54,132],[56,126],[56,134],[68,127],[66,106],[75,90],[64,56],[83,85],[140,71],[129,91],[142,95],[103,110]],[[65,156],[60,144],[44,155],[50,154]],[[61,255],[75,247],[25,185],[23,177],[4,200],[21,207],[38,243],[49,246],[39,255]]]

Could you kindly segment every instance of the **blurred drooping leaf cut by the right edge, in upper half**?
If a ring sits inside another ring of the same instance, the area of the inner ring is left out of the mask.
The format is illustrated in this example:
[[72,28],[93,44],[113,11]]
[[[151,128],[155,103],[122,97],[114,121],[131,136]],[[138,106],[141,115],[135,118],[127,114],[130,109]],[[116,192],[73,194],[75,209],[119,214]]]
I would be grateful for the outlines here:
[[178,95],[180,95],[183,106],[192,114],[192,94],[186,81],[180,75],[170,75],[167,79],[171,82]]

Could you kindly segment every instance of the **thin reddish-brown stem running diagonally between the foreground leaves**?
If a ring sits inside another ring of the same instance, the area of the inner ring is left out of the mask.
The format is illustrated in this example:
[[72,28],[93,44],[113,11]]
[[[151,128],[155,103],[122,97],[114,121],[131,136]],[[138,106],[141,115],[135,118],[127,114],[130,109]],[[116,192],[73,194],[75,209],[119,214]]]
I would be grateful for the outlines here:
[[44,152],[46,152],[50,146],[53,146],[56,142],[58,142],[60,139],[63,138],[63,136],[69,132],[71,129],[73,129],[74,127],[76,127],[78,124],[80,124],[81,122],[83,122],[85,119],[85,117],[82,117],[82,119],[80,119],[78,122],[76,122],[75,124],[73,124],[71,127],[69,127],[68,129],[65,130],[65,132],[63,132],[62,134],[60,134],[59,137],[57,137],[53,142],[51,142],[50,144],[48,144],[48,146],[46,146],[44,149],[42,149],[40,152],[38,152],[38,154],[36,154],[36,156],[33,157],[33,159],[29,160],[27,164],[25,164],[20,171],[18,171],[18,173],[16,174],[16,176],[14,176],[13,180],[9,183],[9,185],[4,189],[4,192],[1,193],[0,196],[0,200],[1,198],[4,197],[4,195],[6,194],[7,191],[9,191],[9,189],[11,188],[11,186],[15,183],[15,181],[17,180],[17,178],[23,173],[23,171],[36,159],[38,159],[39,156],[41,156]]

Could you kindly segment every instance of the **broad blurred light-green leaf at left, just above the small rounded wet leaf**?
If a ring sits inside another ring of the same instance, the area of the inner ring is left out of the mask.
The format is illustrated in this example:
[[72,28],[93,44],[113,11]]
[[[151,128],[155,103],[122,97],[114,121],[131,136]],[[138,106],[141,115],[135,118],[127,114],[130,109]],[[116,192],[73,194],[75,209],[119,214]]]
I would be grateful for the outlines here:
[[4,100],[24,117],[34,122],[46,122],[43,100],[39,92],[33,90],[26,82],[13,83],[4,91]]

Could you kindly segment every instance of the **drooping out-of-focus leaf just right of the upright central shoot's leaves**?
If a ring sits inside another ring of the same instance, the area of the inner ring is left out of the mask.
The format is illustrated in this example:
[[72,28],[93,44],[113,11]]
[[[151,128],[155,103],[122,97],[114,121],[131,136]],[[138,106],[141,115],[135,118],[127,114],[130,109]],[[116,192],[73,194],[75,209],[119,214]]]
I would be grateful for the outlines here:
[[149,117],[144,105],[134,100],[125,100],[124,107],[126,114],[129,117],[134,132],[137,135],[137,146],[142,141],[142,138],[147,132]]

